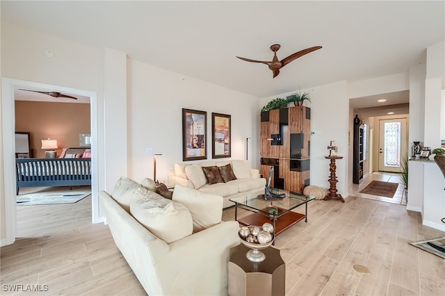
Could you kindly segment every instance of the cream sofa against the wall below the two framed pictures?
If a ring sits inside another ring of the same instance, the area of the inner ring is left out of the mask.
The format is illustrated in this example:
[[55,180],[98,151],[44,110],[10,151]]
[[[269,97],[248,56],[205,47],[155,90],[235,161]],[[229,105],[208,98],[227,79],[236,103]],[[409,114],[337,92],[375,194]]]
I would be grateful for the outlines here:
[[[209,184],[202,167],[223,167],[231,165],[236,180]],[[220,195],[224,198],[223,208],[234,206],[229,199],[264,190],[266,179],[260,178],[259,170],[249,167],[248,161],[205,161],[202,163],[175,163],[174,170],[168,172],[170,186],[176,184],[194,188],[200,192]]]

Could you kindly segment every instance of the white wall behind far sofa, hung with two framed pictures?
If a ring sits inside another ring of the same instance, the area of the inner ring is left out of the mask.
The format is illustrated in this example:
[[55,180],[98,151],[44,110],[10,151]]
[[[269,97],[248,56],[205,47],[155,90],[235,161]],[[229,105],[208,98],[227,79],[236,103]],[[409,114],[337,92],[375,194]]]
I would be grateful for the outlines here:
[[211,113],[222,113],[231,115],[231,159],[245,159],[245,138],[250,137],[249,160],[258,167],[256,97],[137,60],[129,60],[128,81],[129,176],[133,179],[153,178],[153,155],[147,155],[147,148],[162,154],[156,158],[156,179],[168,180],[168,170],[182,162],[182,108],[207,112],[207,160],[212,156]]

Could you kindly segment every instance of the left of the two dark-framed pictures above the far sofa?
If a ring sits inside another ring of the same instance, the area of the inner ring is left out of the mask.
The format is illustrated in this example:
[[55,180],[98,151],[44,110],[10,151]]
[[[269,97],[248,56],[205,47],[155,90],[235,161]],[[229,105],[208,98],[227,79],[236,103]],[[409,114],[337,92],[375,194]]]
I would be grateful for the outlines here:
[[207,112],[182,109],[182,161],[207,159]]

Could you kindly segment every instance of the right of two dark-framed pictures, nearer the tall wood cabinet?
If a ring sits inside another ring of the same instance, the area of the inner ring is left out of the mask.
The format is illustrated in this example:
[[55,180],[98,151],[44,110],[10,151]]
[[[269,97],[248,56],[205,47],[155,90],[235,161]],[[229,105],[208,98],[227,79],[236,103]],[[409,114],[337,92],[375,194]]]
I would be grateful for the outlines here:
[[212,158],[231,156],[230,115],[211,113]]

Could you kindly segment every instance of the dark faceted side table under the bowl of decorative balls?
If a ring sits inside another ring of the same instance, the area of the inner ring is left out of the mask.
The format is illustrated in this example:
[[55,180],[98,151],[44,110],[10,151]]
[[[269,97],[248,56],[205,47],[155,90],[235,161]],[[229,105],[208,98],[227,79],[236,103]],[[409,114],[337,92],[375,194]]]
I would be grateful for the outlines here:
[[285,295],[286,265],[280,250],[261,249],[266,255],[262,262],[251,262],[245,254],[250,250],[243,244],[230,249],[229,296]]

